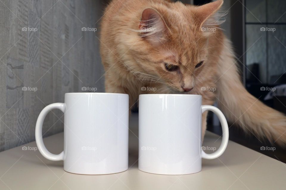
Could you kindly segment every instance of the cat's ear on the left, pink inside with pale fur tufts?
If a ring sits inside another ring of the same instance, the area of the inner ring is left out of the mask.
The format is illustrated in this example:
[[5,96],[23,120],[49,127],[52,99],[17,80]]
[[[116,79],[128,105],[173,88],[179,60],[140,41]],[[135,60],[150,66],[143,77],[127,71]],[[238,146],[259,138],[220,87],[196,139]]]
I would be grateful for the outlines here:
[[155,46],[162,44],[168,31],[164,18],[153,8],[143,10],[138,29],[139,35]]

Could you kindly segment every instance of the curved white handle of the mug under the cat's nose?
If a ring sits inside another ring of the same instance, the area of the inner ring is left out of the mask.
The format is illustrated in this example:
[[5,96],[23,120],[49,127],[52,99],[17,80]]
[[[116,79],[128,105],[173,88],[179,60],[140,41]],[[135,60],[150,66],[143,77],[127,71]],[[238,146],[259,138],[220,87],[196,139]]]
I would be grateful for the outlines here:
[[217,115],[218,119],[220,120],[220,124],[223,129],[223,139],[221,141],[219,149],[212,154],[207,154],[202,150],[202,158],[209,160],[215,159],[218,158],[220,155],[222,155],[223,152],[226,150],[226,146],[229,141],[229,127],[227,125],[225,116],[218,108],[212,105],[202,105],[201,108],[202,108],[202,113],[208,110],[214,112]]

